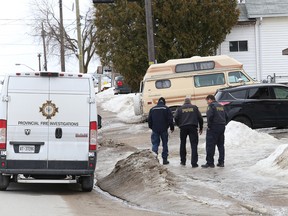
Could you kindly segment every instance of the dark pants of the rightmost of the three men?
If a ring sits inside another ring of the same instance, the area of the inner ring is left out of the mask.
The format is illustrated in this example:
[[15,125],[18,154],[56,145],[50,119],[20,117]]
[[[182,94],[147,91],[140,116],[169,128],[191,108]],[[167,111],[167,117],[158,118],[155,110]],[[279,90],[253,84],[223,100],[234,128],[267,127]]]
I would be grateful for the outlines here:
[[225,148],[224,148],[224,132],[225,125],[213,125],[207,129],[206,135],[206,161],[207,164],[214,164],[215,146],[219,151],[218,163],[224,164]]

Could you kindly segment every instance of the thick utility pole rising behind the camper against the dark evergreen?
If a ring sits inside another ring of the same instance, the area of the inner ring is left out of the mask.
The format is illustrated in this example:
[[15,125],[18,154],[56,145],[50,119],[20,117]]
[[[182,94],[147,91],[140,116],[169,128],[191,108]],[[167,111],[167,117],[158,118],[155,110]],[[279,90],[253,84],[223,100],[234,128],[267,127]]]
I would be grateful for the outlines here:
[[151,0],[145,0],[145,14],[146,14],[148,60],[149,60],[149,65],[151,65],[155,63],[155,46],[154,46],[154,31],[153,31]]

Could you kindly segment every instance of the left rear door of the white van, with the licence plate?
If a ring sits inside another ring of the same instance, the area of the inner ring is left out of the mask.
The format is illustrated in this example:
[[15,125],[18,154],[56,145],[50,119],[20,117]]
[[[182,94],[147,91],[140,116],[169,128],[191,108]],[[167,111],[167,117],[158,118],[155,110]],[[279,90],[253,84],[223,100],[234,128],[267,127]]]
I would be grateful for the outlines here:
[[41,106],[48,100],[49,79],[10,76],[7,95],[7,168],[46,169],[48,126]]

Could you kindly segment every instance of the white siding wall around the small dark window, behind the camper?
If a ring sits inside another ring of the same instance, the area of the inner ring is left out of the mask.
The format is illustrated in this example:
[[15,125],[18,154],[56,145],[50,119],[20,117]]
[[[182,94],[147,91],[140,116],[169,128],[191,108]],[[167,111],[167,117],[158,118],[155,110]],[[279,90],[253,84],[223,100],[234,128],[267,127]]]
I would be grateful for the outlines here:
[[[230,52],[229,41],[248,41],[248,51]],[[256,64],[256,42],[255,25],[237,25],[226,36],[225,41],[219,46],[217,54],[228,55],[243,63],[244,70],[252,77],[257,79]]]

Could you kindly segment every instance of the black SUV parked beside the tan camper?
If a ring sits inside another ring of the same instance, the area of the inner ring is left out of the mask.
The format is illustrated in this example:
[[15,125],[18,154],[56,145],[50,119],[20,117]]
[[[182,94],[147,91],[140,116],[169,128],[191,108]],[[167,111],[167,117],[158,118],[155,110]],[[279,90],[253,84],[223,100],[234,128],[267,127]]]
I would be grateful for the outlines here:
[[229,120],[251,128],[288,126],[288,86],[254,84],[220,89],[216,100],[224,105]]

